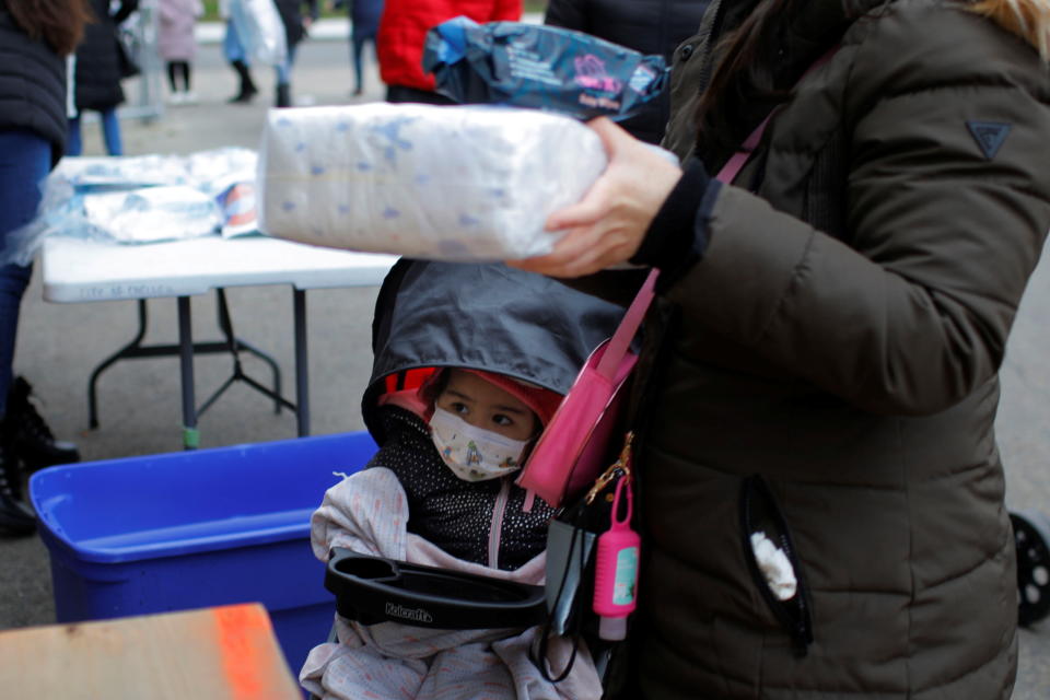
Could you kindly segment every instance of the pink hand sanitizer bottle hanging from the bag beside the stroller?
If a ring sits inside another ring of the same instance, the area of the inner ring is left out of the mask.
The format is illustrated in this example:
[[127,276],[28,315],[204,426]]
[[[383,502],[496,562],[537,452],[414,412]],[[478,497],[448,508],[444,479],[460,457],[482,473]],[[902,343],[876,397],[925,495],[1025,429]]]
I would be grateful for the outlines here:
[[[631,529],[634,495],[630,477],[616,485],[612,500],[612,523],[598,537],[598,555],[594,571],[594,611],[598,621],[598,637],[616,641],[627,637],[627,616],[634,610],[638,591],[638,557],[641,537]],[[627,514],[617,520],[620,498],[627,492]]]

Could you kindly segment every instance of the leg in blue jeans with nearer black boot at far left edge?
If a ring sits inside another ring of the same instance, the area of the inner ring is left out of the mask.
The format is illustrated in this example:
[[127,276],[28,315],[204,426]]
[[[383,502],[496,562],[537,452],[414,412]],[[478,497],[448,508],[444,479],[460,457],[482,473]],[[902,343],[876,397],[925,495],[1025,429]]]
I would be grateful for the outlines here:
[[[50,163],[51,147],[45,139],[30,131],[0,132],[0,244],[5,246],[9,235],[36,214]],[[32,272],[32,266],[0,266],[0,418],[7,413],[19,312]],[[0,444],[0,530],[25,535],[34,530],[35,521],[18,502],[18,457]]]

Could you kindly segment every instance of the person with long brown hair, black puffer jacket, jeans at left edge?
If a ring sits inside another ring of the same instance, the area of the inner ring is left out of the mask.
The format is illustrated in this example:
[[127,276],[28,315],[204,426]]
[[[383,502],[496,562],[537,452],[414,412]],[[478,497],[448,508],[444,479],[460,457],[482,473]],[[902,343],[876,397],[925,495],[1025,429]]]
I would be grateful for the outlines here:
[[[83,0],[0,0],[0,246],[28,223],[40,186],[66,147],[66,56],[90,18]],[[77,462],[13,380],[15,332],[32,266],[0,266],[0,533],[28,535],[33,512],[21,501],[22,477],[48,464]]]

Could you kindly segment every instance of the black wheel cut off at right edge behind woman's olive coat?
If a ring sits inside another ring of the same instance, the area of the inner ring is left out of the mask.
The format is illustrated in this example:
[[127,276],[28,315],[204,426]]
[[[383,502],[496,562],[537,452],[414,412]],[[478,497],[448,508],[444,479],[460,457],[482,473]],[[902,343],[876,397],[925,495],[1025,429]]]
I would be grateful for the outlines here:
[[1038,622],[1050,614],[1050,520],[1041,513],[1011,513],[1017,546],[1017,621]]

